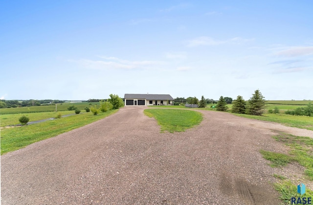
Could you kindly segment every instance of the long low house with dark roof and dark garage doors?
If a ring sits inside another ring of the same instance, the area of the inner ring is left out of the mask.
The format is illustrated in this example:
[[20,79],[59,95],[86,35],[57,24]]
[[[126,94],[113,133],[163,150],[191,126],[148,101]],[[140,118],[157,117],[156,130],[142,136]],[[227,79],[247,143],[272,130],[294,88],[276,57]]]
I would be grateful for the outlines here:
[[169,94],[125,94],[125,106],[173,105],[174,98]]

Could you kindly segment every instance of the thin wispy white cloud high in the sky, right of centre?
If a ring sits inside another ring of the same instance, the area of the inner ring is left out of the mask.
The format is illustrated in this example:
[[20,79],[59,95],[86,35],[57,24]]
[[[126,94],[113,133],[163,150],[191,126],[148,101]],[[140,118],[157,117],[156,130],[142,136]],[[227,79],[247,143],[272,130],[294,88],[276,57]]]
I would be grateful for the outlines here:
[[221,44],[242,44],[248,41],[253,41],[254,39],[244,39],[241,37],[235,37],[232,39],[227,40],[215,40],[211,37],[201,36],[195,39],[188,41],[188,47],[195,47],[195,46],[215,46]]

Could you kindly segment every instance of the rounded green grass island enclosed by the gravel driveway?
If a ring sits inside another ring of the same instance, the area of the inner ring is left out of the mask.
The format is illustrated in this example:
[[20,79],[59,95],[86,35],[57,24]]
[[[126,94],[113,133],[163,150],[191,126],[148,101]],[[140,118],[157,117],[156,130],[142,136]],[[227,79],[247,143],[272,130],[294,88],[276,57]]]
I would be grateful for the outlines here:
[[161,132],[184,132],[186,129],[199,125],[202,114],[196,111],[179,109],[147,109],[144,114],[154,117],[161,126]]

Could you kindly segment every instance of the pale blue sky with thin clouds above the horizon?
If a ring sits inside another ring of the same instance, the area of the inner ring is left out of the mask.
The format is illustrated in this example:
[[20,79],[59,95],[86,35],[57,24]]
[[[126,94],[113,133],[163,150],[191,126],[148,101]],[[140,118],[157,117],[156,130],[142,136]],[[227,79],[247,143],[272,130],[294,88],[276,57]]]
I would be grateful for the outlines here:
[[313,100],[312,0],[0,0],[0,99]]

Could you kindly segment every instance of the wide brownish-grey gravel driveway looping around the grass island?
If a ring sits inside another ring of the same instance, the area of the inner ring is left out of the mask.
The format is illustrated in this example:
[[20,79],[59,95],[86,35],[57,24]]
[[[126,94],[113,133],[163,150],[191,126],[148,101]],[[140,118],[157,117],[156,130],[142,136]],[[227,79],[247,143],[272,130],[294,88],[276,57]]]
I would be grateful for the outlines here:
[[1,156],[2,205],[279,204],[259,150],[283,149],[273,131],[313,136],[210,111],[196,128],[160,133],[144,109]]

